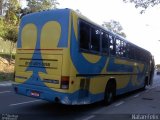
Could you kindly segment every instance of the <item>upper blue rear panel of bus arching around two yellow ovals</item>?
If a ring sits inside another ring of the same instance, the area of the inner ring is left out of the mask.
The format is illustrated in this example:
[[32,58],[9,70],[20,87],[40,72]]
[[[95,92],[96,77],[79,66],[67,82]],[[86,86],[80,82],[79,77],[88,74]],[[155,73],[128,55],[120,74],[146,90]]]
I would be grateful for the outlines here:
[[[37,38],[37,44],[36,49],[40,48],[40,35],[41,30],[44,24],[48,21],[57,21],[60,23],[62,27],[62,35],[60,38],[60,41],[58,43],[57,47],[67,47],[68,46],[68,26],[69,26],[69,15],[70,10],[69,9],[62,9],[62,10],[50,10],[50,11],[43,11],[37,13],[32,13],[29,15],[26,15],[22,18],[22,22],[20,24],[19,34],[18,34],[18,42],[17,42],[17,48],[22,48],[21,44],[21,35],[22,35],[22,29],[26,24],[33,23],[36,25],[38,30],[38,38]],[[62,17],[63,15],[63,17]]]

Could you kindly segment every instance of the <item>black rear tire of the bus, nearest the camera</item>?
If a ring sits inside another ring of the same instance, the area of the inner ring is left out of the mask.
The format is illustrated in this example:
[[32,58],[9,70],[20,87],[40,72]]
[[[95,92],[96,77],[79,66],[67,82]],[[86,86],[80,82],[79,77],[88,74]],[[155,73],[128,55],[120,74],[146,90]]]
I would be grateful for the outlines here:
[[104,105],[110,105],[116,95],[116,83],[113,81],[109,81],[106,85],[105,88],[105,93],[104,93]]

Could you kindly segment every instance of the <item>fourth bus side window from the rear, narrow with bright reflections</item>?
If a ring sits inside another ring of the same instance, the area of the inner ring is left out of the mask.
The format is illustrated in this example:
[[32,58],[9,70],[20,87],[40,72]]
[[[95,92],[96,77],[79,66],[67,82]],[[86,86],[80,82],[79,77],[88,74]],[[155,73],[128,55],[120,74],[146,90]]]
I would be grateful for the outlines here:
[[110,49],[110,54],[111,55],[115,55],[116,51],[115,51],[115,40],[113,38],[113,36],[109,35],[109,49]]

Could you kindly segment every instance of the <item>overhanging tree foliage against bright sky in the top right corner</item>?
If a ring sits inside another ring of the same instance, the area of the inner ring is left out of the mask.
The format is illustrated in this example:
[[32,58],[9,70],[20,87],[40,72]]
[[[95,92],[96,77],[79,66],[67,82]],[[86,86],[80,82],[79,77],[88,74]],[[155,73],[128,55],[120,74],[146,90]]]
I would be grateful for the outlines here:
[[160,4],[160,0],[123,0],[125,3],[131,2],[135,4],[136,8],[142,8],[141,14],[149,7],[154,7],[155,5]]

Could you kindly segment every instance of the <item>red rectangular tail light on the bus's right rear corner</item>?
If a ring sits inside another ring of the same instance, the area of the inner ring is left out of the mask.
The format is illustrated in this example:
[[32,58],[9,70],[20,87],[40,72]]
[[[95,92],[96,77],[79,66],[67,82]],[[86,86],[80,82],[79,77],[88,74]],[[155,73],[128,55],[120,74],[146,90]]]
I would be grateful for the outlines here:
[[69,88],[69,76],[62,76],[61,89],[68,89],[68,88]]

